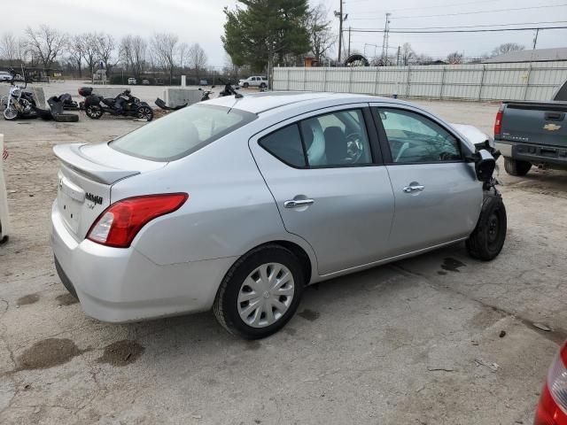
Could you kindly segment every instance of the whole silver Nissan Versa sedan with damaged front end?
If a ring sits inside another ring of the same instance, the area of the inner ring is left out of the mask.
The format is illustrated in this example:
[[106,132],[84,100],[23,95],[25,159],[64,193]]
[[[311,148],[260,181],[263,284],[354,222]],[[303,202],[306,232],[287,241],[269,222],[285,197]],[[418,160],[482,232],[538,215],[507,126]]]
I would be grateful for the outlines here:
[[394,99],[215,98],[54,148],[55,265],[100,321],[212,308],[230,332],[268,336],[308,284],[460,241],[496,257],[506,210],[482,147]]

